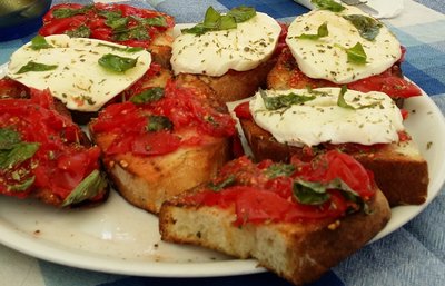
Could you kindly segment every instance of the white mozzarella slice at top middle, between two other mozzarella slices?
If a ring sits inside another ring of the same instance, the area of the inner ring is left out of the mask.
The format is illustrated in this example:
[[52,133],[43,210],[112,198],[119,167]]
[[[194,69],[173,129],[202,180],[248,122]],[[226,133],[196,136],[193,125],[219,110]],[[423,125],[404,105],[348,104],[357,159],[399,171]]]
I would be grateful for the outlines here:
[[238,23],[236,29],[201,36],[182,33],[172,45],[172,70],[175,75],[219,77],[229,69],[254,69],[271,57],[280,31],[275,19],[257,12],[250,20]]

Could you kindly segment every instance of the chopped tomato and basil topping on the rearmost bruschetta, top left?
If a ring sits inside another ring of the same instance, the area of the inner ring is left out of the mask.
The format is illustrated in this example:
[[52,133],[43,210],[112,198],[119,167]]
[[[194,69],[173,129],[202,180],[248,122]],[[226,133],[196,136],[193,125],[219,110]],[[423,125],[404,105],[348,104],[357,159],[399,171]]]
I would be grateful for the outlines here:
[[171,16],[127,4],[61,3],[44,14],[39,33],[67,33],[147,49],[159,33],[174,26]]

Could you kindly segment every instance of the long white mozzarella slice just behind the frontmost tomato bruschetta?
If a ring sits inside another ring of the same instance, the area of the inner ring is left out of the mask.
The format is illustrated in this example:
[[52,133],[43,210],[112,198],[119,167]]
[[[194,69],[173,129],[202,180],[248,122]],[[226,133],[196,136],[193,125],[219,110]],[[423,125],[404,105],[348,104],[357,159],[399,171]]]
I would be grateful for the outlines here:
[[277,110],[268,110],[257,92],[249,102],[255,122],[278,142],[317,146],[322,142],[362,145],[398,141],[403,118],[394,101],[383,92],[347,90],[344,99],[354,108],[338,105],[340,88],[267,90],[268,97],[295,93],[315,99]]

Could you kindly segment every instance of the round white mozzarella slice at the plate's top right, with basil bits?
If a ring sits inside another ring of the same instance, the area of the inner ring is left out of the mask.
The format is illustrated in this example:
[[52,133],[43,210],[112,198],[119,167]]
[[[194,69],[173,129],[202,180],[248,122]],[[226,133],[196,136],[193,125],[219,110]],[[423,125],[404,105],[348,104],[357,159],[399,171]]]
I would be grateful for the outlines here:
[[[355,7],[347,7],[342,12],[314,10],[297,17],[289,26],[286,43],[306,76],[348,83],[379,75],[400,58],[400,43],[387,27],[383,26],[378,36],[369,41],[359,34],[350,21],[343,18],[346,14],[370,17]],[[318,28],[325,22],[327,37],[316,40],[298,38],[303,33],[317,34]],[[353,48],[357,42],[367,56],[366,63],[348,61],[346,49]]]

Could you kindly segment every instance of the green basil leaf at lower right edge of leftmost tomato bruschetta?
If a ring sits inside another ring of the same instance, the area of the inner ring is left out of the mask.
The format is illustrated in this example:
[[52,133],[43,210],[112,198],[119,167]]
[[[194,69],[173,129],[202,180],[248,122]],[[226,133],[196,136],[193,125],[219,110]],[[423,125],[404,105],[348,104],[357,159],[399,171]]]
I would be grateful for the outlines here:
[[103,174],[93,170],[65,198],[62,207],[93,198],[106,187],[107,179]]

